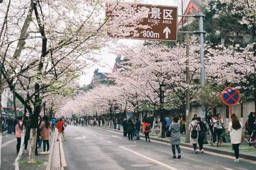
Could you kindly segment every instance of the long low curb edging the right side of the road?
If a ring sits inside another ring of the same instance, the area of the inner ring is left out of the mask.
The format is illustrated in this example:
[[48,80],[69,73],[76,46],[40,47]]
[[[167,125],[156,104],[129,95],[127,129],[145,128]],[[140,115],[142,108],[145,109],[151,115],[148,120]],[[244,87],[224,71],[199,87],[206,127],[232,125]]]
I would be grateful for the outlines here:
[[[104,128],[104,127],[94,127],[94,128],[107,129],[107,128]],[[108,130],[118,132],[118,133],[122,134],[122,132],[120,132],[120,131],[116,131],[116,130],[113,130],[113,129],[108,129]],[[144,135],[140,135],[140,136],[145,137]],[[164,142],[164,143],[170,143],[170,141],[166,141],[166,140],[163,140],[163,139],[152,138],[152,140],[160,141],[160,142]],[[180,146],[193,148],[192,145],[189,145],[189,144],[186,144],[186,143],[180,143]],[[199,149],[199,147],[198,147],[198,149]],[[254,148],[252,147],[252,149],[254,149]],[[217,150],[217,149],[207,148],[206,151],[215,152],[215,153],[218,153],[218,154],[226,154],[226,155],[229,155],[229,156],[234,156],[234,152],[228,152],[228,151],[224,151],[224,150]],[[240,153],[239,153],[239,158],[244,158],[244,159],[248,159],[248,160],[256,160],[256,156],[240,154]]]

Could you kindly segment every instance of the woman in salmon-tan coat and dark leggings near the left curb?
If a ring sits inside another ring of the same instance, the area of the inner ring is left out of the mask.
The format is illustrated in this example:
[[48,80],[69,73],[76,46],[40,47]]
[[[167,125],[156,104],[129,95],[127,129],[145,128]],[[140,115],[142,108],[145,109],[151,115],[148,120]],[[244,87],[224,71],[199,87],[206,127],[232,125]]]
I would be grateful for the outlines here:
[[[49,148],[50,148],[49,140],[50,140],[52,122],[49,121],[49,117],[47,115],[43,117],[43,121],[39,128],[41,131],[40,134],[43,141],[43,150],[44,150],[43,152],[41,152],[41,154],[49,154]],[[46,145],[47,145],[47,150],[46,150]]]

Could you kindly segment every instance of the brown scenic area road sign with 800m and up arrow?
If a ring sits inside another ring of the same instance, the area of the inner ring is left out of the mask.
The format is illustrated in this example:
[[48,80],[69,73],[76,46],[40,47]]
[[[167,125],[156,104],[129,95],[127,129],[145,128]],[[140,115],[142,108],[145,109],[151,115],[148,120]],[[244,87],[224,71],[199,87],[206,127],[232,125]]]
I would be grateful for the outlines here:
[[[148,16],[145,18],[138,18],[139,25],[148,25],[151,28],[142,29],[137,28],[140,35],[134,37],[132,33],[126,37],[118,38],[132,38],[132,39],[146,39],[146,40],[160,40],[160,41],[177,41],[178,39],[178,7],[176,6],[160,6],[148,4],[136,4],[135,8],[148,8]],[[117,16],[118,12],[114,11],[111,14],[110,5],[107,5],[106,16]],[[111,15],[110,15],[111,14]],[[111,36],[111,34],[110,34]],[[114,37],[114,36],[113,36]]]

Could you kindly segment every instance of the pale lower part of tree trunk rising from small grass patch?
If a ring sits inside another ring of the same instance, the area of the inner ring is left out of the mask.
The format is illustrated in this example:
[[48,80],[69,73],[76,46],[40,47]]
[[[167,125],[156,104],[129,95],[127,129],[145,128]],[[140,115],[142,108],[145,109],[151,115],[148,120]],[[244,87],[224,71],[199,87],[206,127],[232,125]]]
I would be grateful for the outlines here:
[[37,129],[36,128],[31,128],[30,129],[30,147],[28,150],[28,160],[27,163],[36,163],[36,157],[35,157],[35,152],[36,152],[36,133]]

